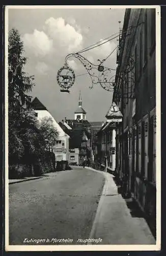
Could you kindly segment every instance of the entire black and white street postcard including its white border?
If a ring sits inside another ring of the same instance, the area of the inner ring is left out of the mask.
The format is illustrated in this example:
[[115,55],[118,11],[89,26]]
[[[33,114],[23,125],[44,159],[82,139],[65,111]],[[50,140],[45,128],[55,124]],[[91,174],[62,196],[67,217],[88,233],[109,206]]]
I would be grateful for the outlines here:
[[6,251],[160,250],[159,113],[160,6],[6,6]]

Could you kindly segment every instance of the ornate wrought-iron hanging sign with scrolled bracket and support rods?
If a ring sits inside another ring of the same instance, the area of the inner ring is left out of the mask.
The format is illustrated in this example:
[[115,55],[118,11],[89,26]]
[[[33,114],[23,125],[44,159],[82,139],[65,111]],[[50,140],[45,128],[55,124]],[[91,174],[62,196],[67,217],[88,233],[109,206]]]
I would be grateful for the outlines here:
[[[126,33],[126,32],[125,32]],[[130,34],[129,34],[130,35]],[[108,67],[105,67],[103,65],[104,61],[118,48],[122,49],[122,43],[124,44],[124,39],[122,38],[121,41],[119,42],[119,47],[117,46],[105,59],[99,60],[100,62],[98,65],[95,65],[91,63],[87,58],[82,56],[80,53],[83,53],[85,51],[91,50],[95,47],[98,47],[102,44],[105,44],[105,42],[112,40],[116,38],[117,36],[110,38],[108,40],[105,40],[101,44],[95,45],[94,47],[89,47],[85,48],[77,53],[71,53],[68,54],[65,58],[65,65],[58,71],[57,74],[57,81],[59,86],[62,88],[62,92],[69,92],[68,89],[71,88],[74,84],[75,81],[75,74],[74,71],[68,66],[68,58],[74,57],[78,59],[82,65],[85,67],[87,74],[90,75],[92,85],[89,87],[90,89],[93,88],[95,84],[100,84],[100,86],[109,92],[113,92],[114,88],[116,88],[116,78],[118,78],[118,83],[126,84],[127,87],[132,88],[133,84],[133,78],[131,77],[131,71],[134,69],[134,58],[133,56],[129,55],[125,57],[124,63],[123,63],[123,68],[120,71],[120,74],[115,76],[115,69],[110,69]],[[119,34],[120,38],[120,34]],[[120,39],[119,39],[120,40]],[[113,73],[114,71],[114,73]],[[130,77],[128,77],[130,74]],[[131,90],[130,90],[131,91]],[[119,94],[119,92],[118,92]],[[133,97],[132,95],[127,97]]]

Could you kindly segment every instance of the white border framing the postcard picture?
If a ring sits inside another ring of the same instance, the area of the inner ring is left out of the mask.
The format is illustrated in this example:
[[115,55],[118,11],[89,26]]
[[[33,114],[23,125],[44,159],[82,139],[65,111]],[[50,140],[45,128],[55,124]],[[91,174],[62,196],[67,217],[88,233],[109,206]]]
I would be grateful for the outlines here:
[[[9,245],[9,183],[8,183],[8,10],[9,9],[122,9],[156,8],[156,245]],[[160,250],[161,246],[161,142],[160,142],[160,6],[112,5],[112,6],[6,6],[5,7],[5,249],[6,251],[148,251]]]

